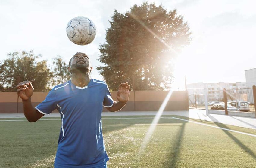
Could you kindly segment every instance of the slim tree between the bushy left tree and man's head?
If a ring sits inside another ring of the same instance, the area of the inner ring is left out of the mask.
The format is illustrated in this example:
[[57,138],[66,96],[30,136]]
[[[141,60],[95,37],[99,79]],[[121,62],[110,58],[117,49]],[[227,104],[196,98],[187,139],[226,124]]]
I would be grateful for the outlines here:
[[53,58],[51,85],[59,85],[70,80],[70,78],[71,73],[67,70],[67,64],[60,55],[57,55],[57,57]]

